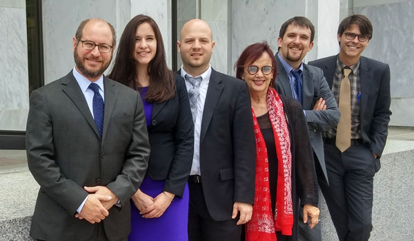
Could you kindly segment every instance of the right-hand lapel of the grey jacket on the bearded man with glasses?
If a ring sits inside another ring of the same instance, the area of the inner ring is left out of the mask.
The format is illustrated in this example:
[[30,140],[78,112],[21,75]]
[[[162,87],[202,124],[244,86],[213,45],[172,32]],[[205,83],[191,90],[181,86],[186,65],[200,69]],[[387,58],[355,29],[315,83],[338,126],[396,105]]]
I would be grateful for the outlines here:
[[[103,76],[103,87],[105,92],[105,107],[103,111],[103,130],[102,130],[102,140],[106,136],[106,131],[108,129],[110,117],[112,116],[112,112],[114,110],[115,102],[117,101],[118,96],[118,88],[110,81],[110,79]],[[95,122],[94,122],[95,123]]]

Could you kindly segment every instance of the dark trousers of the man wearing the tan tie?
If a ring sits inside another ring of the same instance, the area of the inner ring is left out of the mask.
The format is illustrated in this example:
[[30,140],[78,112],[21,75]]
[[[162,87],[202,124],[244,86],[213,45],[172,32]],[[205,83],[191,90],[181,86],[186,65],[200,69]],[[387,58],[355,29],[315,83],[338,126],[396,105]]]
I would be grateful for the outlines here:
[[319,183],[339,241],[368,240],[372,230],[373,177],[376,159],[362,144],[341,153],[325,143],[329,186]]

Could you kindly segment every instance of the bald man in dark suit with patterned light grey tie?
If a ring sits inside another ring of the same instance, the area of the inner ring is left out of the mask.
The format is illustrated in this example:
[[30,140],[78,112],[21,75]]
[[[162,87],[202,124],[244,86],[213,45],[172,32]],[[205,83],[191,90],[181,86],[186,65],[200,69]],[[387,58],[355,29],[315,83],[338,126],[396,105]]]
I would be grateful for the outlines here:
[[177,41],[195,123],[188,238],[238,241],[255,196],[253,118],[246,83],[210,67],[212,39],[208,24],[193,19]]

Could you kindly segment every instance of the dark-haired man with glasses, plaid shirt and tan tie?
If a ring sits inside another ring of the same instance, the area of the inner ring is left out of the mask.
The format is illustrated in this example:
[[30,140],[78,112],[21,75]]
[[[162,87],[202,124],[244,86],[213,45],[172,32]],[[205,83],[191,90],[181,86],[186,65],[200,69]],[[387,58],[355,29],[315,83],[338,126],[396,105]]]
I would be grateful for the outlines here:
[[339,54],[309,63],[324,71],[341,112],[337,128],[324,133],[329,186],[321,185],[341,241],[370,236],[373,177],[391,116],[390,68],[361,56],[372,33],[365,16],[346,17],[337,32]]

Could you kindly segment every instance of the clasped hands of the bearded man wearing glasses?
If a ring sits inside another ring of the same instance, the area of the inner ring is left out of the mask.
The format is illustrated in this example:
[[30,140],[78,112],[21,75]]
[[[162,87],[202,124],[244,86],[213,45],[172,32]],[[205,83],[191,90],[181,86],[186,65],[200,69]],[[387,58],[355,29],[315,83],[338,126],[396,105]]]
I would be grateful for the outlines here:
[[89,195],[82,207],[81,213],[76,213],[75,218],[86,219],[86,221],[94,224],[105,219],[108,210],[118,201],[117,196],[108,187],[83,187],[88,191]]

